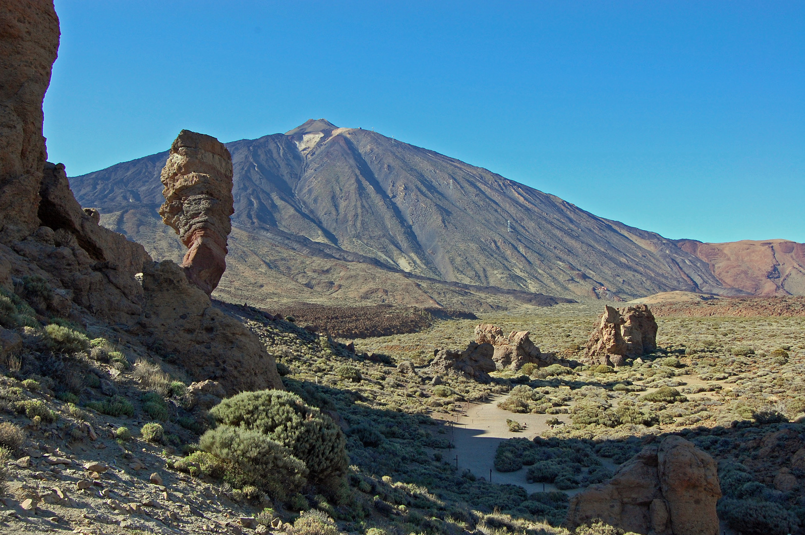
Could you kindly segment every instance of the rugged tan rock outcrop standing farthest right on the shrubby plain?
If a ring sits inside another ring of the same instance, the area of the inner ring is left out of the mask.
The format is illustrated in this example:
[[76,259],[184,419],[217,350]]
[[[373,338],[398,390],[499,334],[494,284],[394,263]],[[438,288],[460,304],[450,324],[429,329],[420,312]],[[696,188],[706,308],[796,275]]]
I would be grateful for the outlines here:
[[584,350],[587,364],[622,366],[657,348],[657,321],[647,305],[609,307],[598,319]]

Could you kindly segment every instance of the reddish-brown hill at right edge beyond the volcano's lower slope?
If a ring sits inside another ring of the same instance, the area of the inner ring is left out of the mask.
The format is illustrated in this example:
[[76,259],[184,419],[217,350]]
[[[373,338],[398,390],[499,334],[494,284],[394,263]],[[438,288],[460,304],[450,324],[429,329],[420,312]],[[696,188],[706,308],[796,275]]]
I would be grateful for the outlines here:
[[805,294],[805,244],[787,240],[676,243],[707,262],[724,286],[755,295]]

